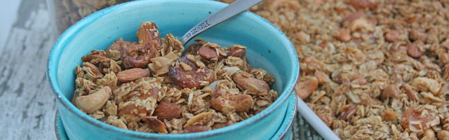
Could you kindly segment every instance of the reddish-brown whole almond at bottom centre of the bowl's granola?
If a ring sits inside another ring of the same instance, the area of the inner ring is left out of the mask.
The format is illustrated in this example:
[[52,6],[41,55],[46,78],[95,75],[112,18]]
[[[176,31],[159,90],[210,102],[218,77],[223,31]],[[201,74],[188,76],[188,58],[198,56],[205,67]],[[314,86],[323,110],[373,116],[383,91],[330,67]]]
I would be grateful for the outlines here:
[[159,120],[171,120],[179,117],[180,114],[180,107],[173,103],[161,102],[154,110],[154,116],[157,116]]

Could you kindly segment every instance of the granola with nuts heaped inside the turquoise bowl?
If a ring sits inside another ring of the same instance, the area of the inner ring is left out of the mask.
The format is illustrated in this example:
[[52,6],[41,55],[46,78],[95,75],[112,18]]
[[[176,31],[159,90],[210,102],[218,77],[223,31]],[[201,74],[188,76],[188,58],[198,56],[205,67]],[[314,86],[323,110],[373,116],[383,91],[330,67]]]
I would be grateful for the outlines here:
[[161,38],[154,22],[143,22],[137,36],[82,57],[76,107],[125,130],[179,134],[233,125],[278,98],[274,76],[250,66],[245,46],[197,40],[182,55],[181,42]]

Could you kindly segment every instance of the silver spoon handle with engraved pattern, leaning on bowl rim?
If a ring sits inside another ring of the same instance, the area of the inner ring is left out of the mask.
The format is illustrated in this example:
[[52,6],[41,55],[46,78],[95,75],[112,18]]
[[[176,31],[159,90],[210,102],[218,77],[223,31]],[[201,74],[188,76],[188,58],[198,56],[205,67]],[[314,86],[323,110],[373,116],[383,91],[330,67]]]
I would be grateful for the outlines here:
[[192,40],[192,38],[203,33],[203,31],[206,31],[211,27],[220,24],[221,22],[233,17],[234,15],[238,15],[244,10],[247,10],[248,8],[255,6],[257,3],[260,3],[261,1],[263,0],[234,1],[233,3],[229,4],[229,6],[218,10],[217,13],[214,13],[209,18],[203,20],[203,22],[200,22],[198,25],[187,31],[187,33],[184,34],[184,36],[182,36],[181,38],[182,45],[186,45],[190,40]]

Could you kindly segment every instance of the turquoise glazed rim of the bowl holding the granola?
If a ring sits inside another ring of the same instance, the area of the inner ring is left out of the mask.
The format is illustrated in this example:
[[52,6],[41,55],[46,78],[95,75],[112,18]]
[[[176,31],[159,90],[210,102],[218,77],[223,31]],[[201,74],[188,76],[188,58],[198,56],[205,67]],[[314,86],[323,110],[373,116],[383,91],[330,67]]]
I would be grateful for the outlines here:
[[217,134],[223,134],[226,132],[231,132],[233,130],[239,129],[241,127],[245,127],[246,125],[250,123],[257,122],[258,120],[261,120],[262,118],[265,118],[269,115],[269,113],[272,113],[275,109],[277,109],[279,106],[281,106],[281,103],[286,102],[288,97],[290,97],[290,94],[293,93],[293,87],[295,83],[297,82],[297,79],[299,78],[299,72],[300,72],[300,65],[299,61],[297,59],[297,54],[295,51],[295,48],[293,47],[293,44],[290,42],[290,40],[287,38],[285,34],[283,34],[282,31],[280,31],[278,28],[276,28],[272,23],[265,20],[264,18],[260,17],[259,15],[256,15],[255,13],[251,13],[249,11],[241,13],[242,15],[245,15],[246,17],[250,18],[250,20],[259,20],[262,25],[266,25],[267,27],[271,28],[272,31],[275,32],[275,34],[279,34],[281,42],[283,42],[283,48],[287,50],[290,54],[288,54],[289,59],[292,60],[290,64],[287,64],[291,66],[291,71],[293,71],[292,78],[286,81],[286,87],[283,88],[283,91],[281,93],[281,96],[276,99],[276,101],[270,105],[267,109],[264,109],[264,111],[257,113],[255,116],[248,118],[246,120],[243,120],[239,123],[236,123],[234,125],[230,125],[227,127],[223,127],[217,130],[210,130],[206,132],[197,132],[197,133],[188,133],[188,134],[158,134],[158,133],[147,133],[147,132],[136,132],[132,130],[123,130],[119,127],[114,127],[112,125],[109,125],[107,123],[104,123],[100,120],[96,120],[92,118],[91,116],[88,116],[86,113],[83,113],[80,111],[72,102],[69,101],[69,99],[63,97],[64,94],[62,94],[62,90],[60,89],[60,85],[58,83],[58,65],[60,62],[60,56],[62,55],[62,50],[65,50],[65,43],[70,42],[73,35],[76,35],[80,30],[83,29],[83,27],[89,25],[89,23],[94,22],[96,19],[101,18],[105,13],[113,12],[114,10],[119,10],[127,7],[132,7],[134,5],[138,4],[159,4],[159,3],[195,3],[195,4],[208,4],[210,6],[217,6],[217,8],[222,8],[227,6],[227,3],[222,3],[220,1],[203,1],[203,0],[153,0],[153,1],[129,1],[126,3],[120,3],[115,6],[111,6],[109,8],[105,8],[102,10],[99,10],[98,12],[95,12],[91,15],[88,15],[88,17],[81,19],[79,22],[76,22],[72,27],[69,27],[64,33],[60,35],[58,40],[56,41],[55,45],[53,45],[53,48],[51,49],[51,52],[48,55],[47,59],[47,69],[46,69],[46,78],[48,79],[49,84],[51,85],[51,89],[53,93],[56,95],[57,100],[62,106],[64,106],[68,111],[71,113],[74,113],[75,116],[81,118],[81,120],[86,121],[87,123],[90,123],[91,125],[95,125],[96,127],[116,132],[119,134],[128,135],[130,137],[136,137],[136,138],[144,138],[144,139],[158,139],[158,138],[164,138],[164,139],[182,139],[182,138],[206,138],[215,136]]

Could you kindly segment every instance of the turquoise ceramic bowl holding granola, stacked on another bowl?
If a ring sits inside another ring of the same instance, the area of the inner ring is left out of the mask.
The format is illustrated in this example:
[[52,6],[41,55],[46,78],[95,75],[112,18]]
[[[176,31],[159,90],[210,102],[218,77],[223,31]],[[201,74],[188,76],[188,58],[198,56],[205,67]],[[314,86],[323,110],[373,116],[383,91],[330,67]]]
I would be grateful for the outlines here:
[[[180,38],[210,13],[227,6],[217,1],[152,0],[112,6],[84,18],[63,33],[48,57],[47,77],[58,99],[58,110],[69,139],[271,139],[286,118],[288,99],[298,77],[299,64],[293,45],[279,29],[245,12],[204,32],[198,38],[222,46],[248,48],[247,57],[256,68],[274,74],[272,86],[279,99],[261,113],[240,123],[192,134],[152,134],[122,130],[81,112],[71,102],[74,68],[91,50],[105,50],[117,38],[137,41],[141,22],[154,21],[161,34]],[[285,128],[283,128],[285,129]]]

